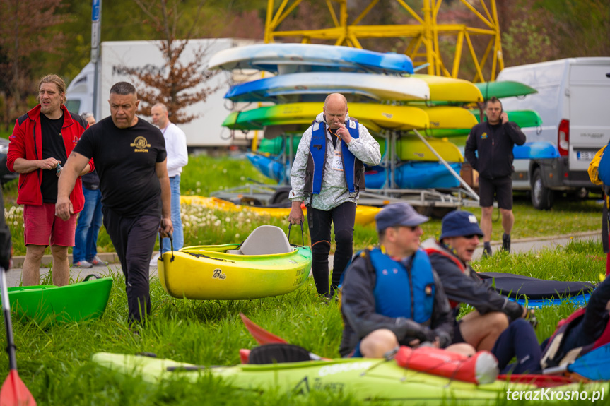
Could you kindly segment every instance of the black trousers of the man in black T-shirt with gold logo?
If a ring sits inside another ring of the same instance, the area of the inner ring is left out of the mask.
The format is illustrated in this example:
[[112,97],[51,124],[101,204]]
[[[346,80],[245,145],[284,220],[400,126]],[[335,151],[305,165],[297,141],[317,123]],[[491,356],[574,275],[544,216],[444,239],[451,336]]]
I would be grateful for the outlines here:
[[123,217],[102,208],[104,227],[115,246],[125,275],[129,321],[140,321],[151,313],[148,271],[160,218],[156,215]]

